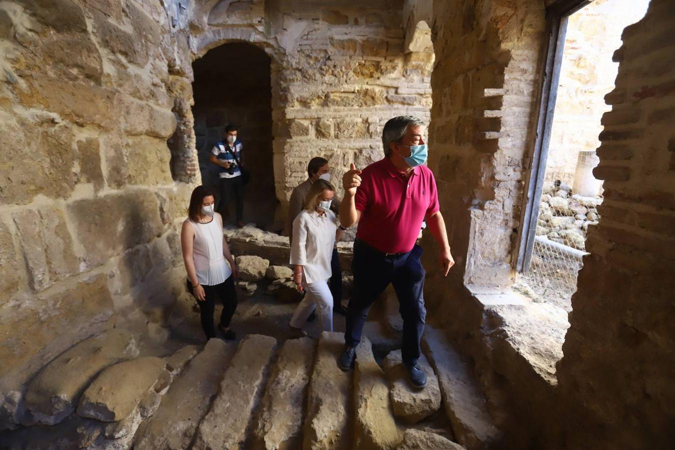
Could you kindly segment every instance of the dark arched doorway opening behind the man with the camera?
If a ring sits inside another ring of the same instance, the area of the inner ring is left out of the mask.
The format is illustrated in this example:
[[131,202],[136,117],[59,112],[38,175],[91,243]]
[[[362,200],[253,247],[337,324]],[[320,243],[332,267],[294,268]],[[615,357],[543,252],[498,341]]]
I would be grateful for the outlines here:
[[[194,134],[202,184],[219,192],[218,167],[209,162],[227,124],[235,123],[244,144],[242,164],[250,172],[244,190],[244,223],[273,224],[278,201],[272,157],[271,58],[248,43],[216,47],[192,64]],[[234,201],[225,223],[234,223]]]

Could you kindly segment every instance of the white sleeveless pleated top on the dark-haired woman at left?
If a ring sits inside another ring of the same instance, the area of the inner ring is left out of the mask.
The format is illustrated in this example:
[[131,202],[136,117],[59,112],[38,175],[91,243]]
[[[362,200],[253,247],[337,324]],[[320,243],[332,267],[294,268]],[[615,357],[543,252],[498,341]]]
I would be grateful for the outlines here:
[[223,256],[223,229],[216,217],[209,223],[186,220],[194,228],[192,259],[200,285],[213,286],[223,283],[232,269]]

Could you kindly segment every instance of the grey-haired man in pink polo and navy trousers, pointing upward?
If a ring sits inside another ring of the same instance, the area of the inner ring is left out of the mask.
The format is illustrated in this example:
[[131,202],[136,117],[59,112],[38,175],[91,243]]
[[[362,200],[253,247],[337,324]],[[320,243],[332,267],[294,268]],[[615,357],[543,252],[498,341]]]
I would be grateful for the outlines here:
[[422,248],[415,244],[426,220],[441,248],[441,268],[448,275],[454,264],[445,221],[439,211],[436,181],[427,161],[422,133],[425,124],[412,116],[389,119],[382,131],[385,157],[363,169],[352,163],[342,184],[340,223],[358,222],[354,241],[354,293],[347,307],[345,349],[338,359],[342,370],[354,366],[355,347],[361,339],[368,311],[382,291],[394,284],[403,318],[402,359],[410,384],[427,385],[418,364],[420,339],[427,310],[423,288]]

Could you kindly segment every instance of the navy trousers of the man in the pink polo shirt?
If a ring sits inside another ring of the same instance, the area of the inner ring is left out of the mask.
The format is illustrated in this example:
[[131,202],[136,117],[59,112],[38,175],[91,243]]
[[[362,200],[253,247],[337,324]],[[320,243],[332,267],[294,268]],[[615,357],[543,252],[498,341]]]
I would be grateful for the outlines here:
[[354,293],[347,306],[345,343],[354,346],[361,340],[363,324],[373,302],[389,285],[394,285],[399,312],[403,319],[401,356],[405,364],[415,364],[421,355],[420,339],[427,310],[424,306],[426,272],[420,261],[422,248],[410,252],[383,254],[361,240],[354,241]]

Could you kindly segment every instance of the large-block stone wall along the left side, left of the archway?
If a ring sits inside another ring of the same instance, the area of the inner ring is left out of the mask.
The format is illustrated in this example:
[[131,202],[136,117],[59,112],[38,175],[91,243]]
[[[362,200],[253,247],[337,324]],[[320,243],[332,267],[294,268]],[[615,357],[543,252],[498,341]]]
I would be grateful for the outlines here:
[[168,26],[159,2],[0,7],[3,427],[45,362],[115,320],[161,320],[180,293],[190,186],[167,138],[186,78]]

